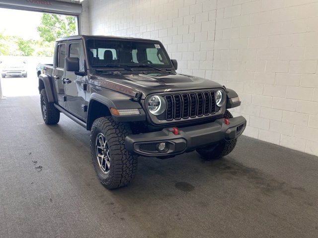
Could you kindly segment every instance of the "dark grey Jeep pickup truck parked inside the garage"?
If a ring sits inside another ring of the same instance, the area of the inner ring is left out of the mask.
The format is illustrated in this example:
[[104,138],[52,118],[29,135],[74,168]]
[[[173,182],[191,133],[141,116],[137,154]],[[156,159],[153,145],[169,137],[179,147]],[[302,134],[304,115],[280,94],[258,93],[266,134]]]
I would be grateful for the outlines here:
[[238,94],[212,80],[176,73],[157,40],[72,36],[56,42],[54,63],[38,67],[46,124],[64,113],[90,130],[93,166],[109,188],[128,184],[137,157],[197,151],[229,154],[246,120],[228,111]]

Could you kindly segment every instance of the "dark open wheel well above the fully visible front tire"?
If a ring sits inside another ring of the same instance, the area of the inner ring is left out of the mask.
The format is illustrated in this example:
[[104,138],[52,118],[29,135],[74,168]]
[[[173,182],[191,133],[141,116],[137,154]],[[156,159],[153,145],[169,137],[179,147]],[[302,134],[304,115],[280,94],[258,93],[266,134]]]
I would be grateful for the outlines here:
[[88,114],[87,114],[87,130],[91,129],[91,126],[95,119],[111,116],[109,108],[98,101],[91,100],[88,106]]

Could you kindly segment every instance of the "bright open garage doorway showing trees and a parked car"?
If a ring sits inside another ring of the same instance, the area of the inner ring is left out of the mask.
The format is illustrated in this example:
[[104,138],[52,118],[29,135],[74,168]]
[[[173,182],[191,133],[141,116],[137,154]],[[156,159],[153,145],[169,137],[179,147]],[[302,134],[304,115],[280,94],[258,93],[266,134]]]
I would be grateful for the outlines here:
[[38,95],[37,65],[53,63],[56,39],[79,34],[78,17],[0,8],[0,22],[5,23],[0,25],[2,95]]

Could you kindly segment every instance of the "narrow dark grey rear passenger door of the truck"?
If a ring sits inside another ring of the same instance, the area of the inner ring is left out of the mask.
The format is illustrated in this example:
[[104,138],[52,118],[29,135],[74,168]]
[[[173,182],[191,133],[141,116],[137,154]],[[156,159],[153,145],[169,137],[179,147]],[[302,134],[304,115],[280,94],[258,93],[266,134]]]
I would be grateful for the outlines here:
[[64,67],[65,67],[65,57],[66,57],[66,43],[60,42],[56,46],[54,68],[53,68],[53,80],[55,84],[56,94],[58,96],[59,105],[65,107],[65,89],[64,89]]

